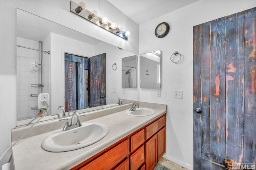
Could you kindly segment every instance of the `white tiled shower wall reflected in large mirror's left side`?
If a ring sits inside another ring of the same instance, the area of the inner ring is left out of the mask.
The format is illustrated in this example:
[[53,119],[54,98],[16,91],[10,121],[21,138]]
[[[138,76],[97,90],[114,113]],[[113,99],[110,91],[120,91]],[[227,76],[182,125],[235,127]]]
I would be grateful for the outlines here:
[[[17,37],[17,44],[38,49],[39,42]],[[38,94],[39,88],[31,87],[31,84],[39,84],[39,71],[34,71],[36,63],[39,62],[39,52],[17,47],[16,56],[17,68],[17,120],[33,118],[38,115],[36,107],[38,104],[37,97],[31,97],[30,94]],[[40,68],[40,66],[39,66]]]

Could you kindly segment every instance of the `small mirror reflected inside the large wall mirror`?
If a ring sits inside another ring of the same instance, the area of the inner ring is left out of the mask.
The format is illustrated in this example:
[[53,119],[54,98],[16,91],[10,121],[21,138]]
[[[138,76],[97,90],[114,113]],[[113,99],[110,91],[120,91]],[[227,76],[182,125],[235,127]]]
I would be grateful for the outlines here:
[[122,88],[137,87],[137,55],[122,58]]

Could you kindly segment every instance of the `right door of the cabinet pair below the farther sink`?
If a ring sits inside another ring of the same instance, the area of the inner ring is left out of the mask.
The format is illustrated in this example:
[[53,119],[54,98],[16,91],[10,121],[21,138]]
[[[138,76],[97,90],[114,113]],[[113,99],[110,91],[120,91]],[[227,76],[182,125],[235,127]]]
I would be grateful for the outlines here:
[[166,127],[160,130],[157,133],[157,153],[158,153],[158,161],[163,157],[166,151]]

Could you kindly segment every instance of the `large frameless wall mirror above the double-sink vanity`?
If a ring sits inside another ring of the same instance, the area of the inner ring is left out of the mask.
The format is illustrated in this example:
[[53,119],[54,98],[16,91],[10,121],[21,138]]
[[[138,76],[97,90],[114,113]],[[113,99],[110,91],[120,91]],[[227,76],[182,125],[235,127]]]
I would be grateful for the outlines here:
[[[139,100],[138,88],[122,90],[122,58],[134,53],[20,9],[17,45],[23,46],[17,46],[16,53],[17,125],[42,112],[37,108],[39,93],[50,94],[45,119],[56,118],[61,113],[59,106],[81,113],[118,106],[119,98]],[[24,47],[50,51],[50,55]]]

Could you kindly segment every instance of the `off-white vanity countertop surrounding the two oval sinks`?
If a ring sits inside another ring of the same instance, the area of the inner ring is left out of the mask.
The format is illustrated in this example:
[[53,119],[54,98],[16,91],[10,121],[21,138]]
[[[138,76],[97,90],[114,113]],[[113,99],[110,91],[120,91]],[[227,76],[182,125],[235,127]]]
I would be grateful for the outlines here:
[[48,152],[41,147],[41,143],[46,137],[54,132],[62,131],[62,129],[22,139],[12,147],[15,170],[67,170],[73,168],[166,113],[166,110],[154,110],[156,113],[153,115],[143,117],[130,116],[125,111],[120,111],[86,121],[104,123],[109,128],[108,134],[97,143],[68,152]]

